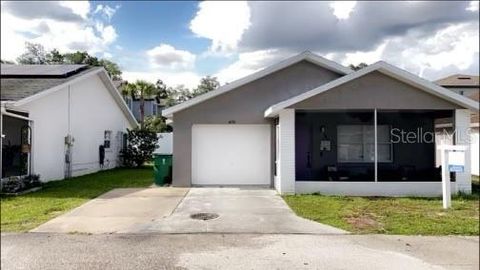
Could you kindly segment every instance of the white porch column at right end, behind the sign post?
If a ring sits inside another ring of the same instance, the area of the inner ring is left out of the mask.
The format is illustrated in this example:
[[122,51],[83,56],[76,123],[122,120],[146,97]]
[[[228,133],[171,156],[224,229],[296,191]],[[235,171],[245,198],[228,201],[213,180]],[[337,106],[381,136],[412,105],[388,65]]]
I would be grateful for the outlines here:
[[455,110],[455,145],[466,146],[465,171],[456,173],[457,192],[472,193],[470,156],[470,110]]

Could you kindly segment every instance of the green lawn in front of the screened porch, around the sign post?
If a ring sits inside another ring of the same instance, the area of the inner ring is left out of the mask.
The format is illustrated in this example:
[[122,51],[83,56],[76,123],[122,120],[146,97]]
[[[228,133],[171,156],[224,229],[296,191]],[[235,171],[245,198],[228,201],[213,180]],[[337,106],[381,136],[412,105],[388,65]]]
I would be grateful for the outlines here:
[[[478,190],[478,186],[476,186]],[[441,198],[283,197],[301,217],[353,233],[479,235],[479,195],[456,196],[444,210]]]

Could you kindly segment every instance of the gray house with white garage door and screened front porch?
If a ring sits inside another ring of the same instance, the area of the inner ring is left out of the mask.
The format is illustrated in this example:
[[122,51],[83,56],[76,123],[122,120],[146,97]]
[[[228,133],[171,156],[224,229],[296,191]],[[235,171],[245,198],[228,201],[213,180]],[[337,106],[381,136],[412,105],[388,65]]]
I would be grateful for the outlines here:
[[[382,61],[352,71],[304,52],[162,114],[173,120],[174,186],[432,196],[436,119],[466,130],[478,108]],[[470,178],[467,160],[452,192],[470,192]]]

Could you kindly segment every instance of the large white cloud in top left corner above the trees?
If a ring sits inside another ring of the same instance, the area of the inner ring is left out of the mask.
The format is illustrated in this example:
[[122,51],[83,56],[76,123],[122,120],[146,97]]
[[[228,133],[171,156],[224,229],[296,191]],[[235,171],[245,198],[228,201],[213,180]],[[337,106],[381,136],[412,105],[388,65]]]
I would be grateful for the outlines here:
[[[52,5],[52,8],[62,6],[64,9],[58,10],[62,10],[63,13],[60,14],[57,10],[50,16],[46,10],[38,17],[29,13],[28,3],[17,3],[10,9],[4,9],[2,2],[2,59],[15,60],[24,52],[27,41],[40,43],[46,50],[53,48],[62,52],[85,50],[90,54],[104,52],[116,41],[117,33],[112,25],[104,25],[102,21],[90,17],[89,2],[66,1],[48,4]],[[72,16],[83,19],[64,19]]]

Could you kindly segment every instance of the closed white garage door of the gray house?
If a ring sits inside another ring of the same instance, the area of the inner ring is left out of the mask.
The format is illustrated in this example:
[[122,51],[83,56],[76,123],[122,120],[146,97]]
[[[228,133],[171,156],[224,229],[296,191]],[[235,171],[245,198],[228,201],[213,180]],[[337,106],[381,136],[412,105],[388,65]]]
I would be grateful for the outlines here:
[[270,185],[269,125],[194,125],[193,185]]

